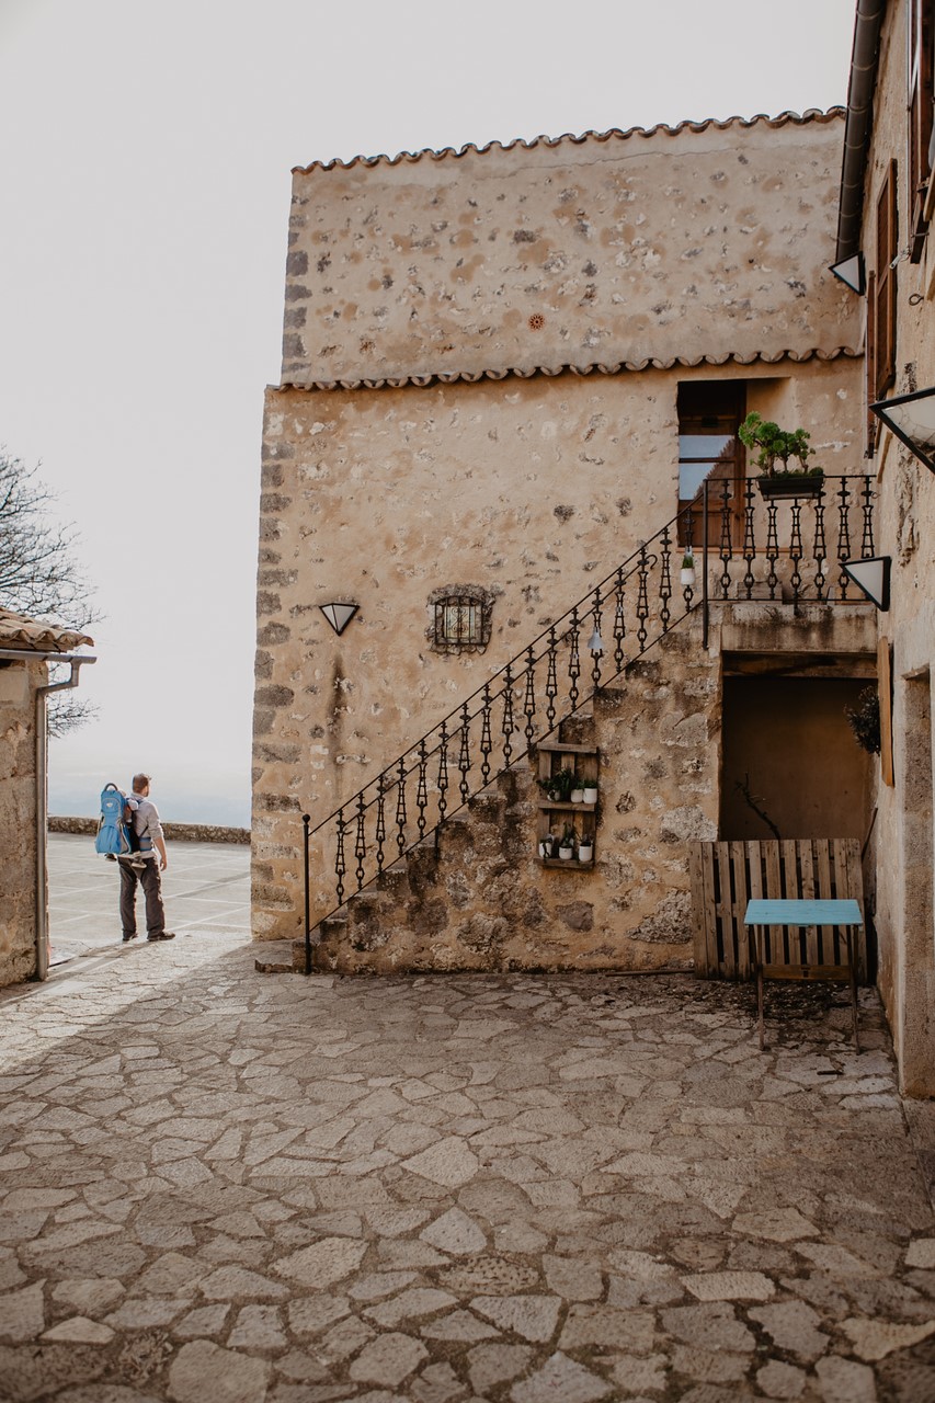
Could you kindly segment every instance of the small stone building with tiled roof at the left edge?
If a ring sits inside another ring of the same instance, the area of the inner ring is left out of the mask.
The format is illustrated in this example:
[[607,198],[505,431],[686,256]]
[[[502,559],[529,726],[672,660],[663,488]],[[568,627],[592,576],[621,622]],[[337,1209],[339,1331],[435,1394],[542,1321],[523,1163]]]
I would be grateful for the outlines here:
[[[0,609],[0,988],[45,978],[48,882],[45,697],[51,659],[72,661],[72,682],[87,658],[70,650],[93,643]],[[52,687],[72,683],[52,683]]]

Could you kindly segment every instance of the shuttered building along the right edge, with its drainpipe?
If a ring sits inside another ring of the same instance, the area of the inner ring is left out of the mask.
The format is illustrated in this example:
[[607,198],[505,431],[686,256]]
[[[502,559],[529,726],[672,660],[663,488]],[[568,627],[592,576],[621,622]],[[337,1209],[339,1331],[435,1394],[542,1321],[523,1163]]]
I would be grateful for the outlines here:
[[[838,257],[866,268],[866,400],[935,387],[935,4],[856,7]],[[880,616],[891,690],[893,767],[877,779],[879,984],[903,1089],[935,1094],[932,690],[935,668],[935,415],[928,467],[870,417],[866,452],[880,497],[880,556],[891,603]],[[927,410],[928,405],[928,410]]]

